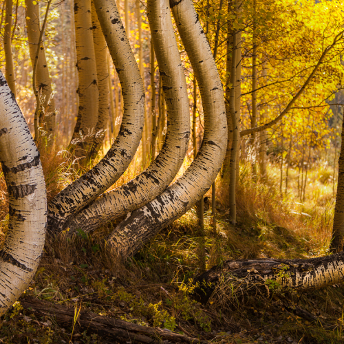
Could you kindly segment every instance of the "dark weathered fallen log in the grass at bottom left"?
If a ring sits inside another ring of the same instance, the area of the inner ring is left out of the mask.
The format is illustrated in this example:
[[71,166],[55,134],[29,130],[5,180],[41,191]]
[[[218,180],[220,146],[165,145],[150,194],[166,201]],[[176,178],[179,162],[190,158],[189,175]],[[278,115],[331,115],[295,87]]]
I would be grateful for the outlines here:
[[68,308],[65,305],[57,305],[35,299],[34,297],[24,297],[20,302],[25,310],[32,312],[35,316],[50,316],[61,327],[72,327],[76,323],[80,330],[87,330],[89,333],[99,334],[118,343],[155,344],[161,343],[162,341],[188,344],[208,343],[208,341],[191,338],[159,327],[152,328],[128,323],[127,321],[83,310],[78,312],[78,309]]

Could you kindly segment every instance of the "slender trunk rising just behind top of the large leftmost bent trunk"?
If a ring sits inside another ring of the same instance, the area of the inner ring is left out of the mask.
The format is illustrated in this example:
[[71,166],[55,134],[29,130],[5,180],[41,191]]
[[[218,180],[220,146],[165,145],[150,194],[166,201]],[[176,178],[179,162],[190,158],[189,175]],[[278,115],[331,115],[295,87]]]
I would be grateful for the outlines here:
[[13,69],[13,58],[12,58],[12,8],[13,1],[6,1],[6,16],[5,16],[5,32],[3,34],[3,50],[5,50],[5,61],[6,61],[6,80],[10,87],[14,97],[17,97],[16,92],[16,77]]

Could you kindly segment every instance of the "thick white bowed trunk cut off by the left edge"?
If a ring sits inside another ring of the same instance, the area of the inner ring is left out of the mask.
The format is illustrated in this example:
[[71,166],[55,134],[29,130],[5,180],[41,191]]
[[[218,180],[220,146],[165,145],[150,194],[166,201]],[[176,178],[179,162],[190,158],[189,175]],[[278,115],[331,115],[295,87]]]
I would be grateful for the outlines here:
[[0,72],[0,161],[10,200],[10,222],[0,250],[0,314],[32,280],[43,252],[47,197],[39,151]]

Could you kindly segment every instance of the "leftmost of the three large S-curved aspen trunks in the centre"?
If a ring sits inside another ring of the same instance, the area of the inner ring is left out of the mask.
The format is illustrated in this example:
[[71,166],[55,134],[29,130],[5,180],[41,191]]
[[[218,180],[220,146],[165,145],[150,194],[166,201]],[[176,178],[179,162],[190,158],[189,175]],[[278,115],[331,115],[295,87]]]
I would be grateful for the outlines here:
[[138,149],[144,120],[144,90],[140,71],[114,0],[94,0],[111,57],[122,85],[125,112],[120,132],[111,149],[94,168],[70,184],[48,205],[48,228],[58,232],[69,217],[78,213],[127,169]]

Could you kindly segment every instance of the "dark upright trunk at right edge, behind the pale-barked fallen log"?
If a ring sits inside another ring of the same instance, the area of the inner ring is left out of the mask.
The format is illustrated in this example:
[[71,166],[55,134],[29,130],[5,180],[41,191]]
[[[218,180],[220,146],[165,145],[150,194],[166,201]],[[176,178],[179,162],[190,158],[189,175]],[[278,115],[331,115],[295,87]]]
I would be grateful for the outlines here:
[[331,241],[331,248],[336,250],[337,252],[343,250],[344,244],[344,120],[342,126],[341,141],[341,153],[339,154],[338,160],[336,206],[334,207]]

